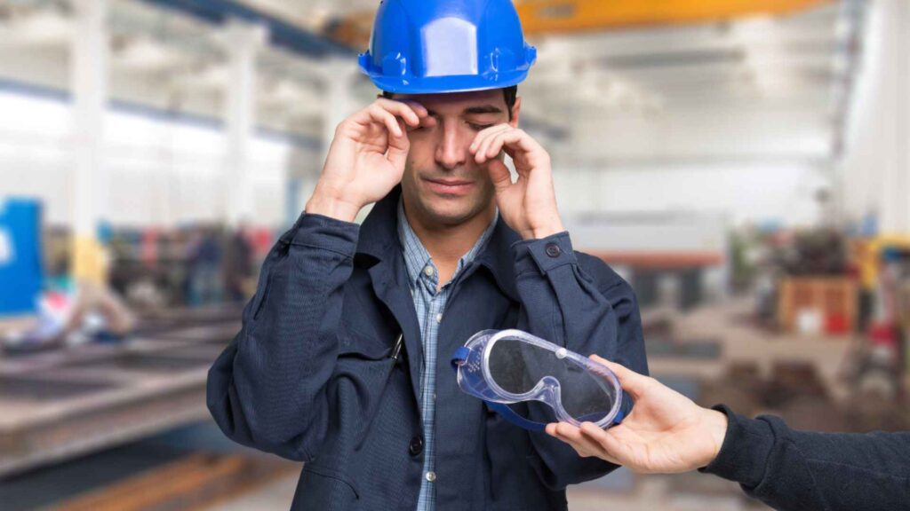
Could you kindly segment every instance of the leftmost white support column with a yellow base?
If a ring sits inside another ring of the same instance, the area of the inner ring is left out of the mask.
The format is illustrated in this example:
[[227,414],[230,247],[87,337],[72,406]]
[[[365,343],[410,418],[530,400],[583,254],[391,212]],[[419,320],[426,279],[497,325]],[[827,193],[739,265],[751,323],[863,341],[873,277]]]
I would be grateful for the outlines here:
[[110,35],[107,0],[73,0],[70,88],[74,165],[72,271],[102,283],[106,260],[99,226],[108,215],[110,175],[104,160]]

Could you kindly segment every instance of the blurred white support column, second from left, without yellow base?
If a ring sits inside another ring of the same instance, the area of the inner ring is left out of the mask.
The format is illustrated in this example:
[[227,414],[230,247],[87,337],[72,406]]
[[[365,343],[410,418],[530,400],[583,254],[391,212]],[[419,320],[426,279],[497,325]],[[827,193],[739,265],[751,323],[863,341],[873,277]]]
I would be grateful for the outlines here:
[[225,218],[236,227],[251,219],[254,189],[250,179],[253,138],[256,135],[257,54],[267,38],[265,27],[227,25],[224,37],[228,52],[225,84]]

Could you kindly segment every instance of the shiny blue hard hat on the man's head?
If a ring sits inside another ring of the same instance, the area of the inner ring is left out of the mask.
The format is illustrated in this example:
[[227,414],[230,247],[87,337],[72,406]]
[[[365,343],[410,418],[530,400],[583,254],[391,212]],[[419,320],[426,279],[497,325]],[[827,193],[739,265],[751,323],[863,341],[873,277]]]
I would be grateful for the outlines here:
[[519,84],[536,58],[511,0],[382,0],[359,64],[383,91],[434,94]]

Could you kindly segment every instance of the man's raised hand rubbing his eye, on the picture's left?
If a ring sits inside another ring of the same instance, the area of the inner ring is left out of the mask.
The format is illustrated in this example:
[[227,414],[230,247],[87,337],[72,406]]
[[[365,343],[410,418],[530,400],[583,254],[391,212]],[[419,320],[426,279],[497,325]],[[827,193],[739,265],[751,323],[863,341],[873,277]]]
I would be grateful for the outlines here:
[[436,121],[414,101],[379,98],[335,130],[307,213],[352,222],[364,205],[401,181],[410,150],[408,129]]

